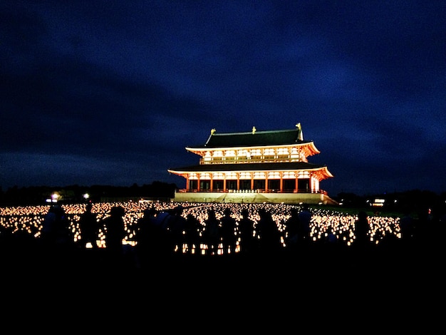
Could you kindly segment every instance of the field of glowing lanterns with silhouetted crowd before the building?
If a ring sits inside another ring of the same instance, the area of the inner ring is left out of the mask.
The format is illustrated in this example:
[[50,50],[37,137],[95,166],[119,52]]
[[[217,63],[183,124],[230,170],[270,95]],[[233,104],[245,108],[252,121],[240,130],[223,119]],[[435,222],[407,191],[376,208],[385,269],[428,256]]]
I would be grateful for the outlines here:
[[[100,206],[104,204],[51,205],[44,215],[35,217],[38,224],[29,224],[26,230],[18,229],[18,216],[3,215],[1,247],[11,247],[9,237],[13,235],[24,236],[27,245],[44,250],[45,258],[55,262],[66,262],[81,253],[100,255],[95,262],[99,259],[108,265],[146,268],[167,257],[288,256],[309,248],[314,251],[315,247],[318,251],[331,248],[331,254],[346,249],[365,254],[378,244],[387,247],[404,241],[408,245],[420,240],[420,231],[428,230],[427,222],[415,229],[415,220],[409,215],[329,215],[306,204],[183,207],[171,202],[108,203],[105,212]],[[24,247],[18,240],[15,238],[14,243]]]

